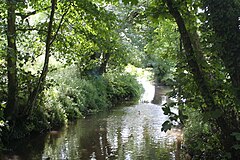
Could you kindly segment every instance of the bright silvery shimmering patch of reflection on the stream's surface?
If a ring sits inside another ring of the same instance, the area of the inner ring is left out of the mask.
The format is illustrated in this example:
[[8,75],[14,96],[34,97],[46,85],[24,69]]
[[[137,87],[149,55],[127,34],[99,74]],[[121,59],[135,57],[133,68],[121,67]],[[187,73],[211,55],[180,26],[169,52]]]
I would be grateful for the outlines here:
[[[148,111],[145,110],[147,107],[150,107]],[[161,125],[155,123],[161,121],[161,118],[157,117],[161,116],[160,108],[143,105],[138,108],[131,107],[128,111],[121,115],[121,118],[112,116],[108,120],[108,140],[111,146],[117,147],[115,154],[118,159],[170,159],[170,148],[163,145],[164,139],[157,137]]]

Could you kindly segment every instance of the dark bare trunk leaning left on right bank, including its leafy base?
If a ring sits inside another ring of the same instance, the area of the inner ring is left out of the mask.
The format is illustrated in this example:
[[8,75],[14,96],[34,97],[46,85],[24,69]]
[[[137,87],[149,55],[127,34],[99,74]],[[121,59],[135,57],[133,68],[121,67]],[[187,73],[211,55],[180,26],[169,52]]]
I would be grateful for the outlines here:
[[193,74],[201,96],[207,105],[207,107],[201,108],[202,112],[206,113],[208,111],[215,111],[216,109],[223,110],[223,114],[216,119],[212,119],[210,123],[215,124],[218,127],[220,131],[219,134],[221,136],[219,140],[221,141],[221,144],[223,145],[225,151],[231,153],[233,159],[238,159],[240,153],[232,148],[234,144],[237,144],[237,142],[235,138],[231,136],[233,132],[239,131],[239,124],[237,123],[238,115],[233,109],[231,109],[231,106],[229,109],[224,109],[223,107],[217,106],[215,104],[213,94],[211,93],[211,89],[207,83],[204,72],[201,70],[198,61],[196,60],[195,55],[197,53],[194,50],[196,48],[194,48],[194,44],[191,41],[190,33],[186,29],[185,22],[178,9],[172,4],[172,0],[167,0],[167,6],[170,14],[174,17],[178,25],[186,53],[185,58],[187,60],[191,73]]

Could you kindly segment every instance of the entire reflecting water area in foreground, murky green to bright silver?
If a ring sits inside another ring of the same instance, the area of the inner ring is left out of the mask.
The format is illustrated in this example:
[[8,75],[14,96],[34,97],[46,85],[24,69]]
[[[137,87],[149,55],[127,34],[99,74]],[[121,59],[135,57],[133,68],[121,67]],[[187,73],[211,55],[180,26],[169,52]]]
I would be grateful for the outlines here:
[[165,119],[159,106],[140,104],[79,120],[48,138],[43,158],[171,159],[173,139],[161,132]]

